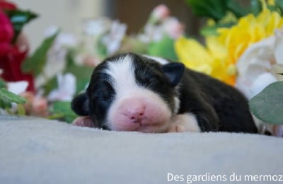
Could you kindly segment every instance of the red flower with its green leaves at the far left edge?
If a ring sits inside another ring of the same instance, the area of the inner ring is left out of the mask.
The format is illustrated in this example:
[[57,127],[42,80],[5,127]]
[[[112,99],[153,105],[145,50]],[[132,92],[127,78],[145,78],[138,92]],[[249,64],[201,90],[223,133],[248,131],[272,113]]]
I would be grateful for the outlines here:
[[[11,103],[25,103],[25,99],[11,93],[35,91],[32,74],[24,74],[21,64],[28,56],[28,41],[21,33],[23,26],[36,18],[37,15],[30,11],[22,11],[15,4],[8,1],[0,1],[0,107],[11,108]],[[4,81],[24,81],[18,83],[20,91],[13,83]],[[6,87],[10,91],[6,90]]]

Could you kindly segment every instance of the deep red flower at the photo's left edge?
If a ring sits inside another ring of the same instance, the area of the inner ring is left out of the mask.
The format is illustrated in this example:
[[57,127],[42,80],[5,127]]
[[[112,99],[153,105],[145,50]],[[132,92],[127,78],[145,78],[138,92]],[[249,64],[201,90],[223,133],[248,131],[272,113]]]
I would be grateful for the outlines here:
[[[34,91],[33,76],[23,74],[21,64],[28,54],[28,45],[13,45],[13,25],[2,10],[13,10],[16,6],[6,1],[0,1],[0,75],[5,81],[28,81],[28,91]],[[21,39],[20,35],[18,39]]]

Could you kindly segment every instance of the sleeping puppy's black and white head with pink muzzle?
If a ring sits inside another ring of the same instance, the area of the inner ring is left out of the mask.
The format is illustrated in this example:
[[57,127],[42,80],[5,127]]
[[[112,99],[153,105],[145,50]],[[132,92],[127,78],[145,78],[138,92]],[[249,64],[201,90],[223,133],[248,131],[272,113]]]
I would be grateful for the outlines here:
[[107,130],[164,132],[179,108],[175,86],[184,68],[133,53],[110,57],[94,69],[71,108]]

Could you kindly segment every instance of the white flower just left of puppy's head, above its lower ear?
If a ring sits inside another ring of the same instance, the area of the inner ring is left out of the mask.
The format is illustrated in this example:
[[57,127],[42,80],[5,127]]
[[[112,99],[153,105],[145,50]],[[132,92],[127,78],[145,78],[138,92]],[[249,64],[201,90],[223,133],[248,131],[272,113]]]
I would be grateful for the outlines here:
[[57,74],[57,83],[58,88],[52,90],[47,99],[50,101],[71,101],[76,93],[76,77],[70,73],[64,74],[64,76]]

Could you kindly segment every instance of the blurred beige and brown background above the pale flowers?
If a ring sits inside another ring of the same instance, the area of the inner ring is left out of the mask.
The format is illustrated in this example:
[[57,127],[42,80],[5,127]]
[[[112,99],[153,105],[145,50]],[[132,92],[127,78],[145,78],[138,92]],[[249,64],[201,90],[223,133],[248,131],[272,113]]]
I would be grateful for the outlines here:
[[146,23],[149,13],[158,4],[166,4],[171,15],[184,23],[186,33],[197,35],[202,24],[200,18],[192,15],[184,0],[13,0],[18,7],[38,13],[39,18],[25,26],[24,32],[30,40],[31,50],[40,45],[45,30],[53,25],[65,33],[81,35],[83,19],[107,16],[127,23],[127,33],[137,33]]

